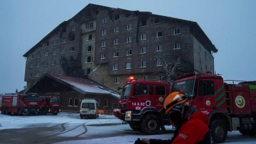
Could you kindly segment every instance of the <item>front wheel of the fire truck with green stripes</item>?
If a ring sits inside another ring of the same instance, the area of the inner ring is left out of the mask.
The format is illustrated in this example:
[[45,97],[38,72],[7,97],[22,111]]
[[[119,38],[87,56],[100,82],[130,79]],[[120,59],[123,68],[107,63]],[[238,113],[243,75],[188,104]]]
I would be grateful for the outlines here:
[[223,143],[227,138],[227,126],[223,120],[214,120],[211,124],[211,135],[214,143]]

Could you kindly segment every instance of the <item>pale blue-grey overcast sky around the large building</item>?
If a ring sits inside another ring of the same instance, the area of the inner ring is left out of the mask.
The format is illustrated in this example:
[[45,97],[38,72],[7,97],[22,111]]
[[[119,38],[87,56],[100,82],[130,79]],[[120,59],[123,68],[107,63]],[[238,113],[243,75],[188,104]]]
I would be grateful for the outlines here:
[[225,80],[256,81],[256,1],[0,0],[0,93],[23,90],[29,49],[89,3],[197,22],[212,44]]

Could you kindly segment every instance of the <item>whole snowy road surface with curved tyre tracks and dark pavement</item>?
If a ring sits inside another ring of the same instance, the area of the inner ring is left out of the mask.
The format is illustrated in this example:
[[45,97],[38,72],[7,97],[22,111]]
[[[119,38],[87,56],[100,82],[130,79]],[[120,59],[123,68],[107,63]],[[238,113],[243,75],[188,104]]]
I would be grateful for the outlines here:
[[[0,143],[68,143],[68,144],[132,144],[137,138],[172,137],[172,127],[168,133],[144,135],[132,131],[129,125],[113,115],[100,115],[94,119],[80,119],[78,113],[54,115],[11,116],[0,114]],[[225,143],[256,143],[256,136],[243,136],[237,131],[228,132]]]

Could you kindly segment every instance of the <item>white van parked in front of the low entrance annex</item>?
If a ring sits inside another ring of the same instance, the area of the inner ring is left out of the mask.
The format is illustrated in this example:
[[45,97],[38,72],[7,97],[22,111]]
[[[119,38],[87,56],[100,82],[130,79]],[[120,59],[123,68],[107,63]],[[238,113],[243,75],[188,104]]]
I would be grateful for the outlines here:
[[80,118],[99,117],[99,105],[95,99],[83,99],[80,106]]

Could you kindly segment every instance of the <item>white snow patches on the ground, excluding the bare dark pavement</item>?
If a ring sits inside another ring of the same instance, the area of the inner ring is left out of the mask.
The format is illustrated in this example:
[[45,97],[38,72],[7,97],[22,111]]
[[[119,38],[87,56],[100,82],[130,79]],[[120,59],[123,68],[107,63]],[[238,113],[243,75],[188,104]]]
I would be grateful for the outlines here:
[[[56,118],[58,117],[58,118]],[[57,119],[57,120],[56,120]],[[53,126],[60,123],[69,124],[84,124],[88,125],[88,127],[93,127],[92,125],[95,124],[121,124],[122,121],[118,118],[115,118],[113,115],[100,115],[99,118],[95,119],[80,119],[79,113],[65,113],[61,112],[58,115],[38,115],[38,116],[31,116],[31,115],[24,115],[24,116],[10,116],[10,115],[1,115],[0,112],[0,131],[3,129],[22,129],[22,128],[29,128],[29,127],[38,127],[40,126]],[[90,125],[90,126],[89,126]],[[87,127],[87,126],[86,126]],[[111,125],[107,126],[106,129],[114,129],[115,127],[111,127]],[[131,128],[129,125],[119,125],[116,131],[119,131],[120,127],[124,128],[124,131],[130,131]],[[95,132],[99,129],[98,127],[93,127]],[[167,127],[166,129],[172,129],[172,127]],[[131,130],[131,132],[133,132]],[[112,143],[134,143],[135,140],[138,138],[161,138],[161,139],[168,139],[172,138],[172,134],[157,134],[157,135],[141,135],[140,133],[137,134],[127,134],[126,136],[111,136],[108,138],[93,138],[92,140],[76,140],[76,141],[62,141],[58,144],[68,143],[68,144],[97,144],[97,143],[104,143],[104,144],[112,144]],[[246,143],[252,144],[256,143],[256,136],[254,138],[249,136],[243,136],[238,131],[228,132],[228,137],[225,143]]]

